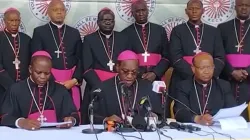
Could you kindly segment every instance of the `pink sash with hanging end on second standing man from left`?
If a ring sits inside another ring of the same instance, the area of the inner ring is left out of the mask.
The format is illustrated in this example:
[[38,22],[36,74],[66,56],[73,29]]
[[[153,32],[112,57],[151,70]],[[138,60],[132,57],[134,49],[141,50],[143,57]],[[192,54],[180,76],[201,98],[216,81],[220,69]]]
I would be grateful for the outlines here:
[[[69,70],[58,70],[58,69],[54,69],[54,68],[51,69],[53,76],[55,77],[56,81],[58,81],[58,82],[65,82],[67,80],[72,79],[74,71],[75,71],[75,67],[73,67],[72,69],[69,69]],[[79,110],[80,100],[81,100],[80,90],[77,86],[73,86],[71,88],[71,91],[72,91],[72,98],[73,98],[74,104],[75,104],[77,110]]]

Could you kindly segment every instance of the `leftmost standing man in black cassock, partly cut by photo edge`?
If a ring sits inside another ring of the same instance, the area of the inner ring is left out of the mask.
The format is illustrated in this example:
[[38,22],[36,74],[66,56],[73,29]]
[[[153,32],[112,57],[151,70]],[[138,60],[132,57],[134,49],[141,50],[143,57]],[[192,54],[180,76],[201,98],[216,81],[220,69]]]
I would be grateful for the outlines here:
[[20,12],[15,8],[8,8],[3,19],[5,29],[0,31],[0,106],[5,91],[15,82],[28,77],[31,57],[31,38],[18,31],[21,22]]

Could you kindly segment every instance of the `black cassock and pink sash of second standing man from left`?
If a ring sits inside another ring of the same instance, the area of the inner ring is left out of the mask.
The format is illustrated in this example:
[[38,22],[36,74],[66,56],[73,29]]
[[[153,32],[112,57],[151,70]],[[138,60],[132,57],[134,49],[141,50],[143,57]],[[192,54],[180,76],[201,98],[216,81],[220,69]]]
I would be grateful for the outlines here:
[[[65,82],[76,78],[82,83],[82,40],[77,29],[66,24],[58,27],[52,22],[34,29],[31,50],[47,51],[52,57],[52,78],[58,82]],[[60,52],[60,53],[59,53]],[[77,109],[80,108],[80,87],[71,88],[72,97]]]

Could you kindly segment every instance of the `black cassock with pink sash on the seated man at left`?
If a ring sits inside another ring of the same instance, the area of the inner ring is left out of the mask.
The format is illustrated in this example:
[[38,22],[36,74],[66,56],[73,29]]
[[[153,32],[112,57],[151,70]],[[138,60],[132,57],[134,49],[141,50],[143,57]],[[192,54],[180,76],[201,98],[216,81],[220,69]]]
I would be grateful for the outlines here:
[[[46,91],[48,91],[47,96]],[[47,84],[38,87],[29,78],[20,81],[11,87],[4,104],[8,104],[8,107],[6,105],[3,109],[5,115],[2,117],[2,125],[15,127],[18,118],[38,119],[40,117],[38,108],[43,112],[46,122],[62,122],[65,117],[74,117],[76,124],[79,124],[78,113],[70,93],[64,86],[55,82],[50,82],[48,87]],[[44,111],[42,111],[43,106]]]

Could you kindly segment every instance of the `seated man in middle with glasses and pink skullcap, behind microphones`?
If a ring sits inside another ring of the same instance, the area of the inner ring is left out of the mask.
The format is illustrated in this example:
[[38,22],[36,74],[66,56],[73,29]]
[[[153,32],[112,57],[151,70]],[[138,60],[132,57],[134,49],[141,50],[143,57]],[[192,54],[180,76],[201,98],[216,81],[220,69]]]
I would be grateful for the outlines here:
[[119,54],[115,67],[118,74],[93,91],[92,95],[100,95],[94,111],[94,123],[103,123],[104,120],[126,122],[125,116],[146,117],[147,110],[141,102],[145,97],[150,99],[152,114],[161,116],[161,96],[152,91],[150,81],[137,78],[138,63],[138,56],[132,51],[125,50]]

